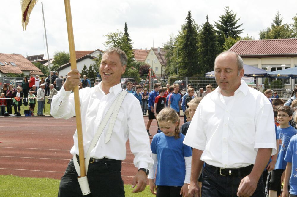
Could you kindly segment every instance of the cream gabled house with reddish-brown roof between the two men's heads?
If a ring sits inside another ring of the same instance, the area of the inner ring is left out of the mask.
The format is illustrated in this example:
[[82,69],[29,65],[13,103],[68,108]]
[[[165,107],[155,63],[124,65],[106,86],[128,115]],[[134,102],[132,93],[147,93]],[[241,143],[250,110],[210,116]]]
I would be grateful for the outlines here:
[[158,77],[164,77],[167,59],[165,58],[166,51],[163,48],[151,48],[146,56],[144,63],[151,65],[154,73]]

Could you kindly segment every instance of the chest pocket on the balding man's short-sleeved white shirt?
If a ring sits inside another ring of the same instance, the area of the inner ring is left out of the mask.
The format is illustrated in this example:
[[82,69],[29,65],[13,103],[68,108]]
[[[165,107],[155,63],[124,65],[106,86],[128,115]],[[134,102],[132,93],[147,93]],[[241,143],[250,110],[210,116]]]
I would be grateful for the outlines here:
[[256,130],[255,123],[249,117],[235,117],[234,124],[231,127],[231,140],[241,144],[255,143]]

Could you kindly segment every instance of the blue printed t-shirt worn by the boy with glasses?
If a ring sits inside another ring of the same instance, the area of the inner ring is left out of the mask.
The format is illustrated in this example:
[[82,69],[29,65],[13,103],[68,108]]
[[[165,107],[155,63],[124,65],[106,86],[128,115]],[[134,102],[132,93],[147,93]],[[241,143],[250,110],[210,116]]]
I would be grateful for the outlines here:
[[279,135],[279,154],[277,155],[277,162],[274,169],[286,169],[287,162],[284,158],[290,139],[296,135],[296,129],[292,126],[284,129],[277,127],[277,133]]

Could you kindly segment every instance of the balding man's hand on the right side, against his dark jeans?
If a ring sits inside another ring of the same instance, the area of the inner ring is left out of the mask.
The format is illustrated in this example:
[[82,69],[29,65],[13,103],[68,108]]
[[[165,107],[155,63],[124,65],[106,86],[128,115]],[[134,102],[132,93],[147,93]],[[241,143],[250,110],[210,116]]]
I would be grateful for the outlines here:
[[237,196],[252,196],[257,188],[258,180],[250,174],[241,179],[237,189]]

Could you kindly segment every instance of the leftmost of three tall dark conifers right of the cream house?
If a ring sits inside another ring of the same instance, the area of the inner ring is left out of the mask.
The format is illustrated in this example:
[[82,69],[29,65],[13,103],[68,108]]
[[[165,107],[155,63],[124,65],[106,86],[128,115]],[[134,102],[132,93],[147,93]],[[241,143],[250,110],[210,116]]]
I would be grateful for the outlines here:
[[179,57],[183,61],[182,64],[178,64],[178,74],[181,76],[192,76],[195,72],[200,71],[198,66],[198,32],[193,25],[191,11],[188,12],[186,20],[187,22],[183,26],[181,33],[181,50],[179,51]]

